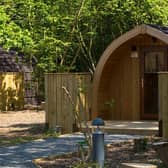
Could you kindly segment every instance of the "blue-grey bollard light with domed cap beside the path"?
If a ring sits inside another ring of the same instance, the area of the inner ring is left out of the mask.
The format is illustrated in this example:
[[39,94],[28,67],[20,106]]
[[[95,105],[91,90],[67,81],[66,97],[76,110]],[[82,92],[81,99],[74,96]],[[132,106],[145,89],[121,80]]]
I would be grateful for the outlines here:
[[101,127],[104,126],[104,121],[101,118],[96,118],[92,121],[92,126],[96,126],[96,130],[92,133],[92,159],[98,163],[100,168],[104,167],[104,133]]

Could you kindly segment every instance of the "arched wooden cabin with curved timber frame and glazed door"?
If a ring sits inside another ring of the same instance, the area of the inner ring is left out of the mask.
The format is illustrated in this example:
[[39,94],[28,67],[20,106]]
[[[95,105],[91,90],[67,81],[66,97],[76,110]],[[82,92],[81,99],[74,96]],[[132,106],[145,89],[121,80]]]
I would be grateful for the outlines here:
[[139,25],[126,32],[107,47],[98,62],[92,117],[158,120],[159,79],[167,72],[168,27]]

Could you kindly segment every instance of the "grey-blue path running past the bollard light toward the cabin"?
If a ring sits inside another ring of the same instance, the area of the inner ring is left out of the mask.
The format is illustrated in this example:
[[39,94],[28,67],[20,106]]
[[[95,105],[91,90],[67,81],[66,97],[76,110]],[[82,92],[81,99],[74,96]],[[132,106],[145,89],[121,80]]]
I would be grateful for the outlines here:
[[[122,142],[138,138],[136,135],[105,135],[106,143]],[[17,146],[0,148],[1,168],[33,168],[33,159],[77,150],[82,134],[63,135],[59,138],[36,140]]]

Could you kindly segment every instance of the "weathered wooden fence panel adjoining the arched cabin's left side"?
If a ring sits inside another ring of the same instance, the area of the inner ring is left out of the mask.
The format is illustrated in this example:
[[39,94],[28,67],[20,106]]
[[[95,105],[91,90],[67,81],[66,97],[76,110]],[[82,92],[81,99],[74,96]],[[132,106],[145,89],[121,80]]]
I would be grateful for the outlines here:
[[[75,106],[66,94],[66,88]],[[91,107],[91,75],[89,73],[48,73],[45,75],[46,123],[49,128],[62,126],[62,132],[73,132],[74,110],[81,120],[89,119]]]

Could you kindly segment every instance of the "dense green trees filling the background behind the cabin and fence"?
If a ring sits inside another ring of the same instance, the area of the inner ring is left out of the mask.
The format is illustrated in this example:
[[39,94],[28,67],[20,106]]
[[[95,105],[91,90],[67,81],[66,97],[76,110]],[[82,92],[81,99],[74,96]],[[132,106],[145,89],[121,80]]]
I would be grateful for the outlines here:
[[1,0],[0,45],[44,72],[90,71],[107,45],[142,23],[168,24],[163,0]]

